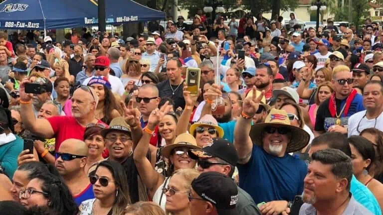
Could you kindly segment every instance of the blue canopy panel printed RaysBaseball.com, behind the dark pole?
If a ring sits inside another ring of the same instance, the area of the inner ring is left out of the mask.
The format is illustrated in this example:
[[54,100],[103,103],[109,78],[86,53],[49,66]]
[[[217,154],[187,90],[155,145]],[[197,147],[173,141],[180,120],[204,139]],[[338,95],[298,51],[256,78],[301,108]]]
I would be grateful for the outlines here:
[[[82,8],[89,8],[91,14],[97,13],[97,0],[79,0]],[[89,6],[86,6],[89,5]],[[106,24],[122,24],[126,22],[145,22],[162,20],[166,13],[139,4],[133,0],[105,0]],[[85,24],[98,23],[98,16],[86,16]]]

